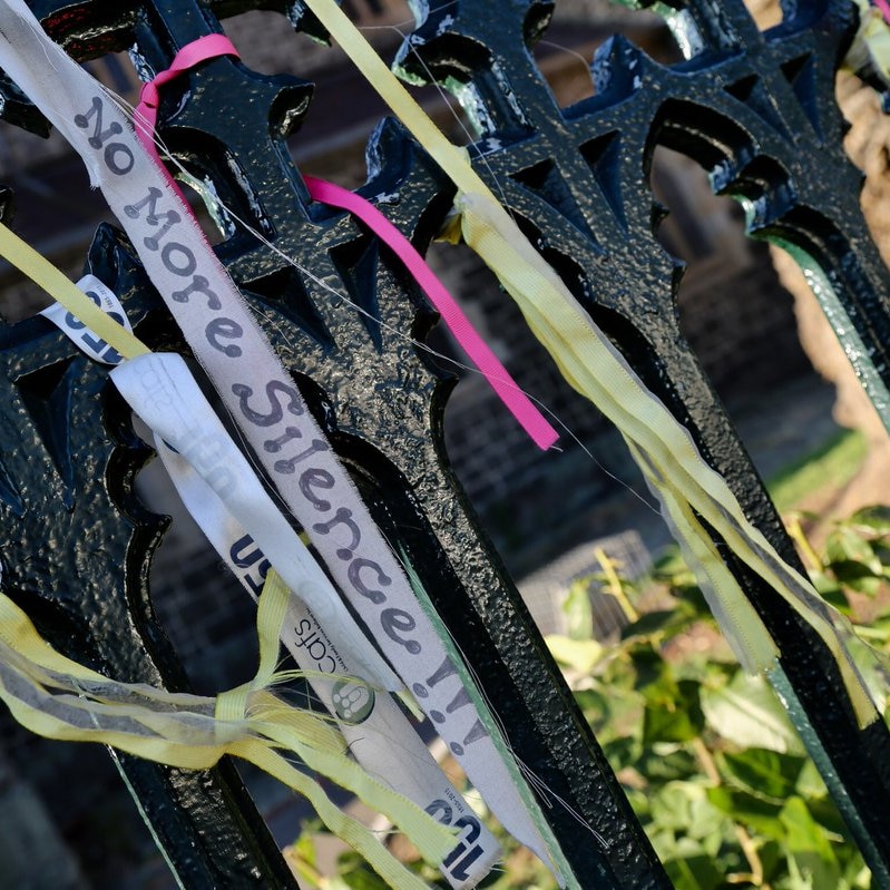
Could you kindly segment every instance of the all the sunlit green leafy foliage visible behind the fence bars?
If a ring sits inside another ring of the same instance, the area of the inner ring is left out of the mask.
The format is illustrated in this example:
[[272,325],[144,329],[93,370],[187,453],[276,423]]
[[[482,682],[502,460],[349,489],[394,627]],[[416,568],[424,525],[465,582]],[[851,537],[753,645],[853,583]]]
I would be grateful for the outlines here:
[[[789,528],[820,593],[890,652],[890,509],[838,524],[821,554],[802,519],[791,517]],[[569,636],[548,643],[677,890],[870,887],[785,711],[762,677],[739,668],[692,575],[672,559],[637,589],[597,557],[602,576],[577,583],[567,597]],[[591,637],[593,584],[628,615],[618,640]],[[383,890],[352,853],[340,858],[335,877],[313,878],[310,833],[291,848],[306,887]],[[482,887],[555,887],[530,854],[509,839],[505,848],[503,870]],[[446,887],[428,867],[414,868]]]

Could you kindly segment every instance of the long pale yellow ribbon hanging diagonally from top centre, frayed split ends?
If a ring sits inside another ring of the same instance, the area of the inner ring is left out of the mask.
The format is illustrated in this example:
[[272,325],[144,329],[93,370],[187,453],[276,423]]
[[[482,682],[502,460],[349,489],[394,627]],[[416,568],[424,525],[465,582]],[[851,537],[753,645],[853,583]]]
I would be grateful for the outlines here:
[[[448,141],[333,0],[305,2],[458,187],[454,206],[463,239],[517,302],[566,380],[632,444],[686,551],[706,573],[746,666],[771,669],[777,649],[716,549],[703,544],[706,535],[693,509],[824,640],[838,662],[860,726],[877,720],[878,712],[843,644],[843,637],[852,634],[847,620],[751,525],[725,480],[698,454],[688,432],[644,387],[472,169],[466,154]],[[456,236],[456,227],[451,225],[449,237]]]

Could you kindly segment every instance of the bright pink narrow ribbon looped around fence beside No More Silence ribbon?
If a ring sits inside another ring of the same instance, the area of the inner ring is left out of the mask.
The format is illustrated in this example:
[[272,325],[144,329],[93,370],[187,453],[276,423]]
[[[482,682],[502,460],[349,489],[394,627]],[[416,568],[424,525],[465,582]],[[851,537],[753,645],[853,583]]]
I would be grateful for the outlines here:
[[[167,174],[170,184],[177,192],[179,192],[179,188],[162,163],[155,147],[155,125],[157,123],[158,105],[160,104],[158,88],[194,68],[199,62],[218,56],[238,57],[238,51],[232,41],[223,35],[207,35],[192,43],[187,43],[176,53],[169,68],[158,72],[153,80],[149,80],[143,87],[139,96],[139,105],[135,113],[136,135],[158,167]],[[537,405],[522,392],[507,369],[491,352],[488,344],[479,336],[463,311],[433,274],[423,257],[414,250],[411,242],[373,204],[354,192],[341,188],[324,179],[315,179],[312,176],[304,176],[303,179],[314,201],[348,211],[361,219],[404,263],[405,268],[413,275],[417,283],[430,299],[430,302],[439,311],[442,321],[448,325],[470,361],[479,369],[535,444],[545,451],[550,448],[559,438],[556,430],[541,414]],[[183,197],[182,192],[179,192],[179,196]]]

